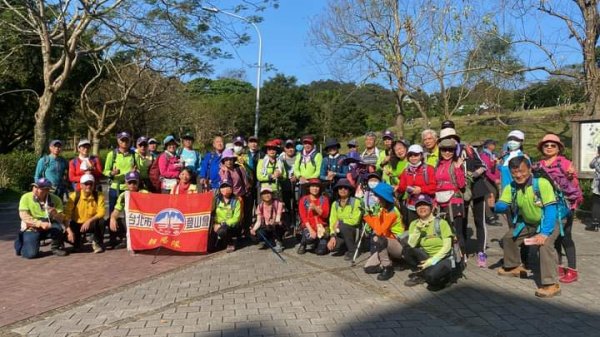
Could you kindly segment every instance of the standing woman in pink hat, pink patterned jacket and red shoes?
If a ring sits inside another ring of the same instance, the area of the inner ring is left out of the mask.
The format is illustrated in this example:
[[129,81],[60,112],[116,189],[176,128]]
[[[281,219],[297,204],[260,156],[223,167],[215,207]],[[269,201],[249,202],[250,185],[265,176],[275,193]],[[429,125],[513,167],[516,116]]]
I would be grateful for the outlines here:
[[[561,189],[569,203],[570,213],[564,223],[564,235],[559,235],[556,238],[554,247],[558,254],[558,280],[562,283],[571,283],[577,281],[575,242],[573,242],[571,231],[575,210],[583,202],[583,193],[579,188],[579,179],[577,179],[577,172],[573,163],[562,155],[564,149],[565,146],[557,135],[545,135],[538,143],[538,150],[543,157],[535,164],[535,167],[546,171],[548,176],[552,178],[554,185]],[[567,256],[567,268],[562,266],[563,248]]]

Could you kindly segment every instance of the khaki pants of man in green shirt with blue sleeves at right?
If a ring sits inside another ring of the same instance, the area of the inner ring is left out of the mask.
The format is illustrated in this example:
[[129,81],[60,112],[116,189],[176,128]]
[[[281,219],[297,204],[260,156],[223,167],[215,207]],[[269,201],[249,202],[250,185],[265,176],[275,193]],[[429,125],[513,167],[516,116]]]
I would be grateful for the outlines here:
[[[502,238],[502,248],[504,249],[504,268],[513,269],[521,264],[521,254],[519,252],[519,246],[523,243],[525,238],[536,235],[537,226],[527,225],[517,237],[513,237],[513,230],[509,229],[504,237]],[[557,278],[557,256],[556,249],[554,248],[554,242],[560,235],[560,229],[558,223],[554,225],[552,234],[546,238],[546,242],[543,246],[528,246],[529,254],[533,254],[536,250],[539,251],[539,282],[541,285],[550,285],[558,282]]]

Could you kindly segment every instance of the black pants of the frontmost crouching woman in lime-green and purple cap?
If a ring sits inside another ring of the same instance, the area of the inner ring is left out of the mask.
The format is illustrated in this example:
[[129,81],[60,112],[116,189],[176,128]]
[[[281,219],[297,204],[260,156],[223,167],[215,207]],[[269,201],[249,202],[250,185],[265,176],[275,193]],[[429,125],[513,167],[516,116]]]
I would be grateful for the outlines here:
[[[417,268],[419,264],[429,258],[429,255],[419,247],[410,247],[406,245],[402,254],[402,258],[411,267]],[[427,284],[432,286],[443,286],[452,279],[452,261],[450,256],[443,258],[438,263],[420,272]]]

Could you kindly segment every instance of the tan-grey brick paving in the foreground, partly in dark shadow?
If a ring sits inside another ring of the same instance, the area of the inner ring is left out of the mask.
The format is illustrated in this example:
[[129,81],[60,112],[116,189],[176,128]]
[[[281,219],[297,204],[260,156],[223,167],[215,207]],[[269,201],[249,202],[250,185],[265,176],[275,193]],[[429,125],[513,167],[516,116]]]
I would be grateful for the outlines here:
[[[491,227],[490,240],[503,231]],[[600,336],[600,233],[579,224],[574,236],[581,280],[553,299],[536,298],[532,280],[500,278],[473,259],[465,279],[432,293],[404,287],[406,271],[380,282],[339,257],[289,249],[282,263],[248,247],[0,328],[0,335]],[[492,263],[500,259],[497,242],[488,253]]]

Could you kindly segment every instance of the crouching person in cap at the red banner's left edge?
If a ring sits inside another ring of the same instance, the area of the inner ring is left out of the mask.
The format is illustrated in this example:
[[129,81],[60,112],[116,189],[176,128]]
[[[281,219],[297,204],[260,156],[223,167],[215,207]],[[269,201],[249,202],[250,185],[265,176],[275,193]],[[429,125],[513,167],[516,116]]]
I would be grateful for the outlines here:
[[127,228],[123,219],[123,211],[125,210],[125,198],[129,192],[148,193],[148,191],[140,189],[140,174],[137,171],[131,171],[125,175],[127,183],[127,191],[122,192],[117,198],[115,209],[110,214],[110,232],[108,246],[112,249],[121,249],[127,247]]

